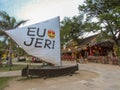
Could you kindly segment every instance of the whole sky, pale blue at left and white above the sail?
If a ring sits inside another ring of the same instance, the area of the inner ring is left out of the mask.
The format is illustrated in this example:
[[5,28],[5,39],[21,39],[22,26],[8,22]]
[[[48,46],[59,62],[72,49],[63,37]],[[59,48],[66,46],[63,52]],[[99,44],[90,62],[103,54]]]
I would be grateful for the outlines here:
[[0,0],[0,11],[6,11],[17,20],[29,20],[26,25],[38,23],[56,16],[79,15],[78,6],[84,0]]

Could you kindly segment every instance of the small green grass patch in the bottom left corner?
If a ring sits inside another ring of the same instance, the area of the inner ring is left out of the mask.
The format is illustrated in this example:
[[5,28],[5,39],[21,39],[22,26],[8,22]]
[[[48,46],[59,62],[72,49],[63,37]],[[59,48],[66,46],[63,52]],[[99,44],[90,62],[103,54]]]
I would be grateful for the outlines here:
[[4,90],[8,86],[8,82],[12,79],[13,77],[0,77],[0,90]]

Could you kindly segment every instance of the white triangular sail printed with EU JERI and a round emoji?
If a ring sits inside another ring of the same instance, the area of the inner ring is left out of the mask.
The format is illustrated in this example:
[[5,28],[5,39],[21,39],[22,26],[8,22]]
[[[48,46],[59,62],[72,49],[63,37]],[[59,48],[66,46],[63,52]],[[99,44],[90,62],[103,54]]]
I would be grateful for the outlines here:
[[6,30],[28,54],[59,66],[60,30],[59,17],[34,25]]

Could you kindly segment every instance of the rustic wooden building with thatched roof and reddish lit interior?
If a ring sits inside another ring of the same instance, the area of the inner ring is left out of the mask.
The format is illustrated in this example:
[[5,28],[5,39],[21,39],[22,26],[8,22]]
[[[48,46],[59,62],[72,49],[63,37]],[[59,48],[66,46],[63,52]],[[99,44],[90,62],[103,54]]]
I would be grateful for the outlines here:
[[67,47],[62,51],[64,55],[68,54],[70,58],[74,57],[73,59],[77,59],[82,55],[84,58],[87,58],[89,62],[110,63],[108,56],[109,53],[114,52],[114,42],[109,39],[98,42],[98,36],[99,34],[82,39],[78,46]]

